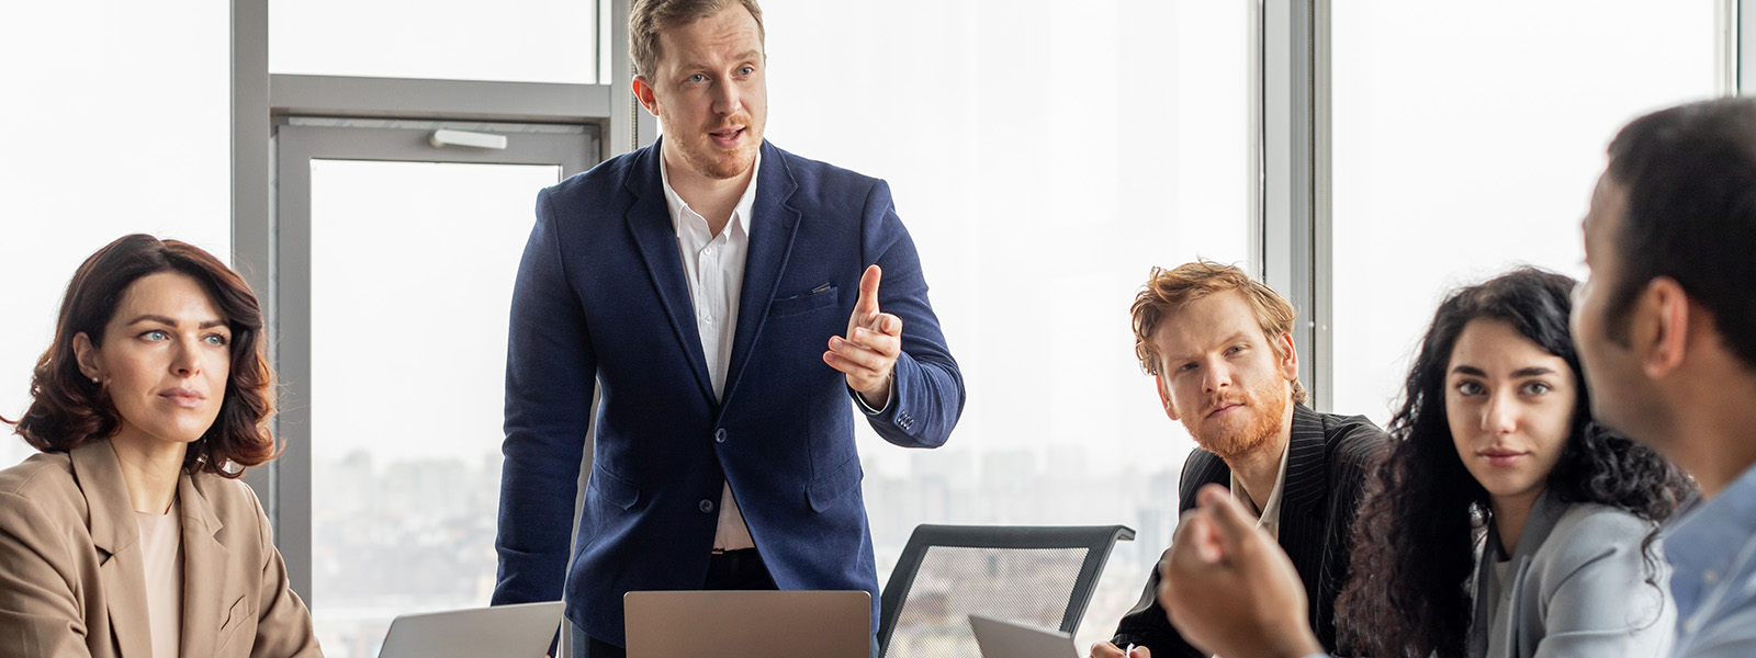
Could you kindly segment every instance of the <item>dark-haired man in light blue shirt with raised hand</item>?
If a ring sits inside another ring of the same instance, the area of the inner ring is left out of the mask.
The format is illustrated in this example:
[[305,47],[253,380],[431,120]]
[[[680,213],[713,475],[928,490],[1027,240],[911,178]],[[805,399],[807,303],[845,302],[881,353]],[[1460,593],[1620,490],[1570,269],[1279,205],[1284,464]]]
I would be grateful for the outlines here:
[[[1593,412],[1702,486],[1665,539],[1672,654],[1756,656],[1756,100],[1635,119],[1608,160],[1573,304]],[[1321,654],[1291,563],[1247,521],[1201,491],[1159,565],[1171,623],[1229,658]]]

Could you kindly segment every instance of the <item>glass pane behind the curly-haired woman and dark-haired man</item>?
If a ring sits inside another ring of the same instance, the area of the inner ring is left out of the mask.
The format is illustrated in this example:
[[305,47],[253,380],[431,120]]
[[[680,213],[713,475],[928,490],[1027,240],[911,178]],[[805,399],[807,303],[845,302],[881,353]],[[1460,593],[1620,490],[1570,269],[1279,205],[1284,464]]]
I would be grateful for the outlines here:
[[1584,275],[1603,149],[1635,116],[1714,93],[1714,7],[1335,4],[1338,412],[1389,418],[1450,288],[1515,263]]

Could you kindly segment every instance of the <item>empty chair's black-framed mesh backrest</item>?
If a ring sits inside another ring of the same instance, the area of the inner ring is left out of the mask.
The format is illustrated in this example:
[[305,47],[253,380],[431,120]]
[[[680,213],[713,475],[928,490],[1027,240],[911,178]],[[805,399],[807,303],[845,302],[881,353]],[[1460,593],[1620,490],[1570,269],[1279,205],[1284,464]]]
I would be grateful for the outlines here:
[[971,612],[1073,633],[1110,549],[1133,539],[1122,525],[917,526],[882,593],[882,654],[976,656]]

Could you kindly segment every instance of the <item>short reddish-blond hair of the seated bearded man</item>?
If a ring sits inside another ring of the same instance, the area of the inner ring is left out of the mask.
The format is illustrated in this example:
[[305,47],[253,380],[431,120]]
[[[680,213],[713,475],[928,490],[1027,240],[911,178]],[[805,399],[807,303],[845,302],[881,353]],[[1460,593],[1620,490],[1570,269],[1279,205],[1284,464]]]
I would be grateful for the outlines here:
[[[1245,304],[1250,305],[1256,323],[1268,337],[1268,346],[1275,349],[1275,356],[1287,358],[1285,344],[1277,339],[1292,333],[1292,321],[1298,318],[1292,304],[1233,265],[1198,260],[1169,270],[1154,267],[1147,284],[1134,295],[1129,314],[1134,318],[1134,356],[1140,358],[1140,368],[1148,375],[1159,375],[1162,354],[1152,344],[1152,337],[1159,333],[1166,319],[1189,304],[1233,290],[1241,293]],[[1305,384],[1292,379],[1292,402],[1305,404],[1306,398],[1310,395],[1305,391]]]

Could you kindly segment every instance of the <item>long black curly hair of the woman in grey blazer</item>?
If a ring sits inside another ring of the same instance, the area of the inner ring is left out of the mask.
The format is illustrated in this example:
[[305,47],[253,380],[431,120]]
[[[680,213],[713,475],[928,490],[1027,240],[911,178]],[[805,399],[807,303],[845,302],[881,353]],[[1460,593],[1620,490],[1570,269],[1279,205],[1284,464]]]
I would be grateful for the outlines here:
[[1572,433],[1549,472],[1563,502],[1593,502],[1652,521],[1640,544],[1656,584],[1656,523],[1695,484],[1651,447],[1598,426],[1568,330],[1573,279],[1531,267],[1463,288],[1440,304],[1391,419],[1391,451],[1373,470],[1354,523],[1354,577],[1336,600],[1343,644],[1370,656],[1463,656],[1475,539],[1491,518],[1487,490],[1457,458],[1445,418],[1445,368],[1473,319],[1510,325],[1559,356],[1579,386]]

